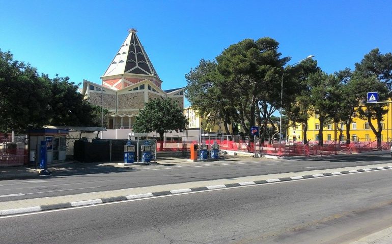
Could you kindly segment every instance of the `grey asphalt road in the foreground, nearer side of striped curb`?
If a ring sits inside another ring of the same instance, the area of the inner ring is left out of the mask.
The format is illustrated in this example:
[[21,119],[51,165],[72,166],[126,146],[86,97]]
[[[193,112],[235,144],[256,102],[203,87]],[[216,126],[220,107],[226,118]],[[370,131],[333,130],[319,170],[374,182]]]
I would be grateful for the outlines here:
[[392,225],[392,170],[0,217],[2,243],[350,243]]

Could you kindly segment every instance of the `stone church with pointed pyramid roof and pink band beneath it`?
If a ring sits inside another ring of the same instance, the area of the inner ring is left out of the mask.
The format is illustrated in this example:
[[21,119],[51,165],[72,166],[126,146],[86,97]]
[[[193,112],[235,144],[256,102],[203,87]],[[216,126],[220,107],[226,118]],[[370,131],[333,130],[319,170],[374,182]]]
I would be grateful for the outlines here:
[[107,129],[132,129],[144,103],[172,98],[184,108],[184,87],[163,90],[159,78],[135,29],[129,34],[101,77],[101,85],[83,80],[82,94],[91,104],[109,111]]

